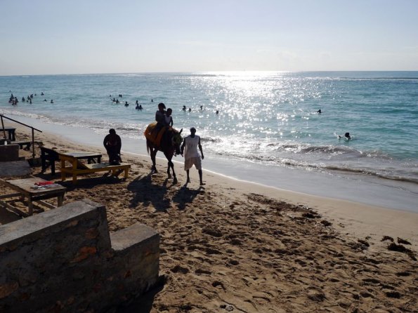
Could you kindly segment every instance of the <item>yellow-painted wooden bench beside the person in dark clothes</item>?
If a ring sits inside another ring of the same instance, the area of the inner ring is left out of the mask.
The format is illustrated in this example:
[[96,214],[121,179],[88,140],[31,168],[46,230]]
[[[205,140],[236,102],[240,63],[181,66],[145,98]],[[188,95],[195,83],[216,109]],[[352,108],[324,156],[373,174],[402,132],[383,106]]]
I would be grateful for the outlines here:
[[[128,178],[129,168],[131,168],[131,164],[128,163],[121,163],[119,165],[110,165],[109,163],[84,164],[74,156],[59,154],[59,157],[61,161],[61,180],[64,181],[67,174],[70,174],[72,175],[73,184],[77,183],[77,175],[105,171],[111,171],[112,176],[115,177],[124,171],[124,178]],[[66,166],[66,162],[70,163],[70,166]]]

